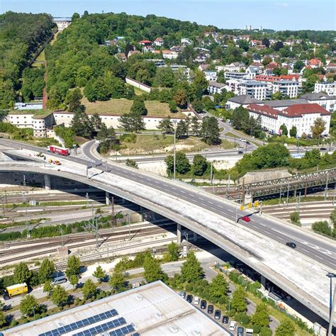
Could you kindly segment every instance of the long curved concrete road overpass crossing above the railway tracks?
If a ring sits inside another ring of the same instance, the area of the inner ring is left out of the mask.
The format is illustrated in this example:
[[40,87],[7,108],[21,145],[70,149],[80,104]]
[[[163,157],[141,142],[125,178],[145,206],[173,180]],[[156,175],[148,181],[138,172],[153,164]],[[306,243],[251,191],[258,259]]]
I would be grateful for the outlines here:
[[[263,277],[284,289],[325,320],[329,319],[329,279],[336,268],[336,248],[316,235],[310,235],[267,215],[240,211],[237,204],[192,186],[138,172],[119,164],[89,169],[90,160],[78,157],[60,159],[61,166],[45,164],[36,157],[38,147],[0,140],[3,152],[11,157],[33,159],[35,164],[2,162],[0,172],[34,172],[55,175],[96,186],[174,220],[215,243],[245,262]],[[59,157],[58,157],[59,158]],[[236,217],[251,215],[249,223]],[[296,242],[297,249],[286,247]],[[263,280],[262,280],[263,282]]]

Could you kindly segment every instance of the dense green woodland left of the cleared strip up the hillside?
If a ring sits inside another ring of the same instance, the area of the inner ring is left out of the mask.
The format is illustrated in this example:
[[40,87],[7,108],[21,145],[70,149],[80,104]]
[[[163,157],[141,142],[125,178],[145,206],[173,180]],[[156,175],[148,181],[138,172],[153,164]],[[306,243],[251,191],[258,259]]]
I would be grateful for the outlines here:
[[52,16],[13,13],[0,15],[0,108],[9,108],[20,89],[20,76],[40,45],[52,36]]

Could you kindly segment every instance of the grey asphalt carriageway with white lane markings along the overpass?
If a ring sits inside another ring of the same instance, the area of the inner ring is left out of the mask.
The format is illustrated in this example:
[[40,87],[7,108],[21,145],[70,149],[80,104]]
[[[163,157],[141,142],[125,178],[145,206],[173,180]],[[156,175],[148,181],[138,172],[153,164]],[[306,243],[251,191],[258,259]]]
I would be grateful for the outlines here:
[[[38,152],[44,152],[50,155],[46,149],[35,147],[32,145],[27,145],[22,142],[13,142],[12,140],[0,140],[0,145],[7,145],[15,148],[26,148],[30,150],[35,150]],[[94,141],[88,143],[88,145],[83,147],[83,152],[86,157],[95,161],[96,158],[91,153],[91,146],[94,146]],[[59,157],[55,155],[55,157]],[[88,159],[81,159],[79,157],[74,157],[70,155],[67,160],[79,164],[87,164],[90,162]],[[97,167],[99,168],[99,167]],[[105,167],[101,167],[105,169]],[[116,176],[123,177],[129,181],[136,181],[142,183],[145,186],[149,186],[152,189],[157,189],[160,192],[167,193],[170,196],[177,197],[193,203],[196,206],[201,206],[206,208],[208,211],[213,211],[218,215],[222,215],[228,220],[235,221],[236,218],[242,218],[244,215],[250,215],[250,222],[245,222],[242,219],[238,219],[238,223],[247,228],[250,228],[266,237],[270,237],[273,240],[286,245],[286,242],[295,242],[296,250],[306,256],[314,259],[318,263],[325,264],[331,269],[336,269],[336,246],[332,246],[330,243],[324,242],[314,235],[307,235],[306,233],[301,233],[300,230],[291,228],[289,225],[284,225],[281,223],[276,223],[275,220],[270,220],[269,218],[264,218],[260,215],[251,215],[250,211],[240,211],[236,204],[230,204],[224,201],[220,201],[218,198],[214,198],[211,194],[200,194],[194,188],[186,189],[185,186],[181,186],[180,183],[164,183],[162,179],[155,176],[150,177],[148,174],[141,174],[140,172],[135,172],[130,169],[125,169],[122,165],[118,166],[116,164],[109,164],[108,169],[111,173]],[[289,248],[289,247],[284,247]]]

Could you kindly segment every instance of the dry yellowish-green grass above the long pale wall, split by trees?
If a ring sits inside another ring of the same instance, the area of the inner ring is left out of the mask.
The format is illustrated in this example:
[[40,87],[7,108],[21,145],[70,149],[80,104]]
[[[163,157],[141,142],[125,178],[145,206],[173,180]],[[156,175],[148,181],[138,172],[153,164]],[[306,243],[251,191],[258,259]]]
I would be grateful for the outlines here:
[[[130,113],[130,107],[133,101],[125,98],[110,99],[109,101],[95,101],[90,103],[86,97],[82,99],[82,104],[86,107],[86,113],[99,113],[100,115],[116,115],[122,116],[125,113]],[[186,118],[181,113],[171,113],[168,103],[160,103],[159,101],[145,101],[145,106],[148,110],[147,116],[149,117],[165,117],[171,116],[176,118]]]

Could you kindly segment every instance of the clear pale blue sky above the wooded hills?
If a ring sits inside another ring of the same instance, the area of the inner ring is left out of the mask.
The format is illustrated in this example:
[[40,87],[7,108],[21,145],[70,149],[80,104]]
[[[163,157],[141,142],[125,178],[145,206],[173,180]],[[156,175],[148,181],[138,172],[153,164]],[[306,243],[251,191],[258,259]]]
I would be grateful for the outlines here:
[[0,13],[72,16],[101,11],[179,18],[219,28],[336,30],[335,0],[0,0]]

